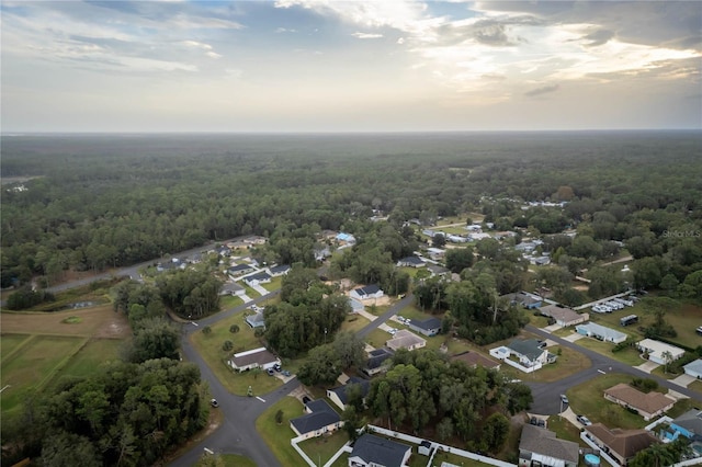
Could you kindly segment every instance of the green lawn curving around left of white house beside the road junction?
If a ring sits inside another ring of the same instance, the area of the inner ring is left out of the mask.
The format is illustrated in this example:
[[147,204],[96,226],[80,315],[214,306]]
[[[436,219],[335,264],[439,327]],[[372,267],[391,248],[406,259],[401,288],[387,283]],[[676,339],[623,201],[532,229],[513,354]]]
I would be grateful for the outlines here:
[[[239,326],[239,332],[229,332],[231,324]],[[191,342],[207,363],[207,366],[217,376],[217,379],[231,394],[246,396],[249,386],[252,387],[254,395],[267,394],[282,385],[279,378],[268,376],[261,372],[244,372],[237,373],[226,363],[231,355],[247,350],[263,346],[253,330],[245,321],[244,314],[237,314],[229,318],[223,319],[211,327],[212,332],[205,334],[202,327],[197,332],[190,337]],[[234,350],[227,352],[222,349],[225,341],[234,343]]]

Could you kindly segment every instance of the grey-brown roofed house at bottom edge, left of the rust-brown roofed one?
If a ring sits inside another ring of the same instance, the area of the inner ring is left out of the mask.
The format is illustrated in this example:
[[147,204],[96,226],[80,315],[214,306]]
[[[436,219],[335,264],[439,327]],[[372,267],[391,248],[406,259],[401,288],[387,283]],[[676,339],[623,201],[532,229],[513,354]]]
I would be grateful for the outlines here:
[[522,428],[520,467],[577,467],[579,454],[578,443],[558,440],[551,430],[530,424]]

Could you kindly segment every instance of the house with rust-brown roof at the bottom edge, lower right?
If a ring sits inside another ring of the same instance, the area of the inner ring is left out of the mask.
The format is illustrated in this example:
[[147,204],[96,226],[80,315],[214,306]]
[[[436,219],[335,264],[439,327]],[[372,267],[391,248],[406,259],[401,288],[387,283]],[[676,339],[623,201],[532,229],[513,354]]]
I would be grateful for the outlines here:
[[586,435],[602,451],[621,465],[625,466],[639,451],[643,451],[658,440],[650,432],[639,430],[609,429],[602,423],[585,426]]

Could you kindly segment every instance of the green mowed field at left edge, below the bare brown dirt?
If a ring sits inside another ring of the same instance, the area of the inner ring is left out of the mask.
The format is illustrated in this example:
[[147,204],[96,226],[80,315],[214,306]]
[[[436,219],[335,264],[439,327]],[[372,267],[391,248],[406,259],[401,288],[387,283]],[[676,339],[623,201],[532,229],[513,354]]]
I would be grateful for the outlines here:
[[3,358],[0,365],[0,387],[5,388],[0,401],[3,418],[14,414],[27,396],[41,391],[86,341],[76,337],[33,335],[23,343],[21,352]]

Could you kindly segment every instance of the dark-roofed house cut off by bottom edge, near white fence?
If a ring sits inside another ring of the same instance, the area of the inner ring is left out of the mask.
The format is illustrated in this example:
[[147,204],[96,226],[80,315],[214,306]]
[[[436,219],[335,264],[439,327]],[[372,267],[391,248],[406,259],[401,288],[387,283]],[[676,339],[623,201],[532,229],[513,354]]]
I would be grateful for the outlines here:
[[349,467],[405,467],[411,453],[411,446],[366,433],[353,443]]

